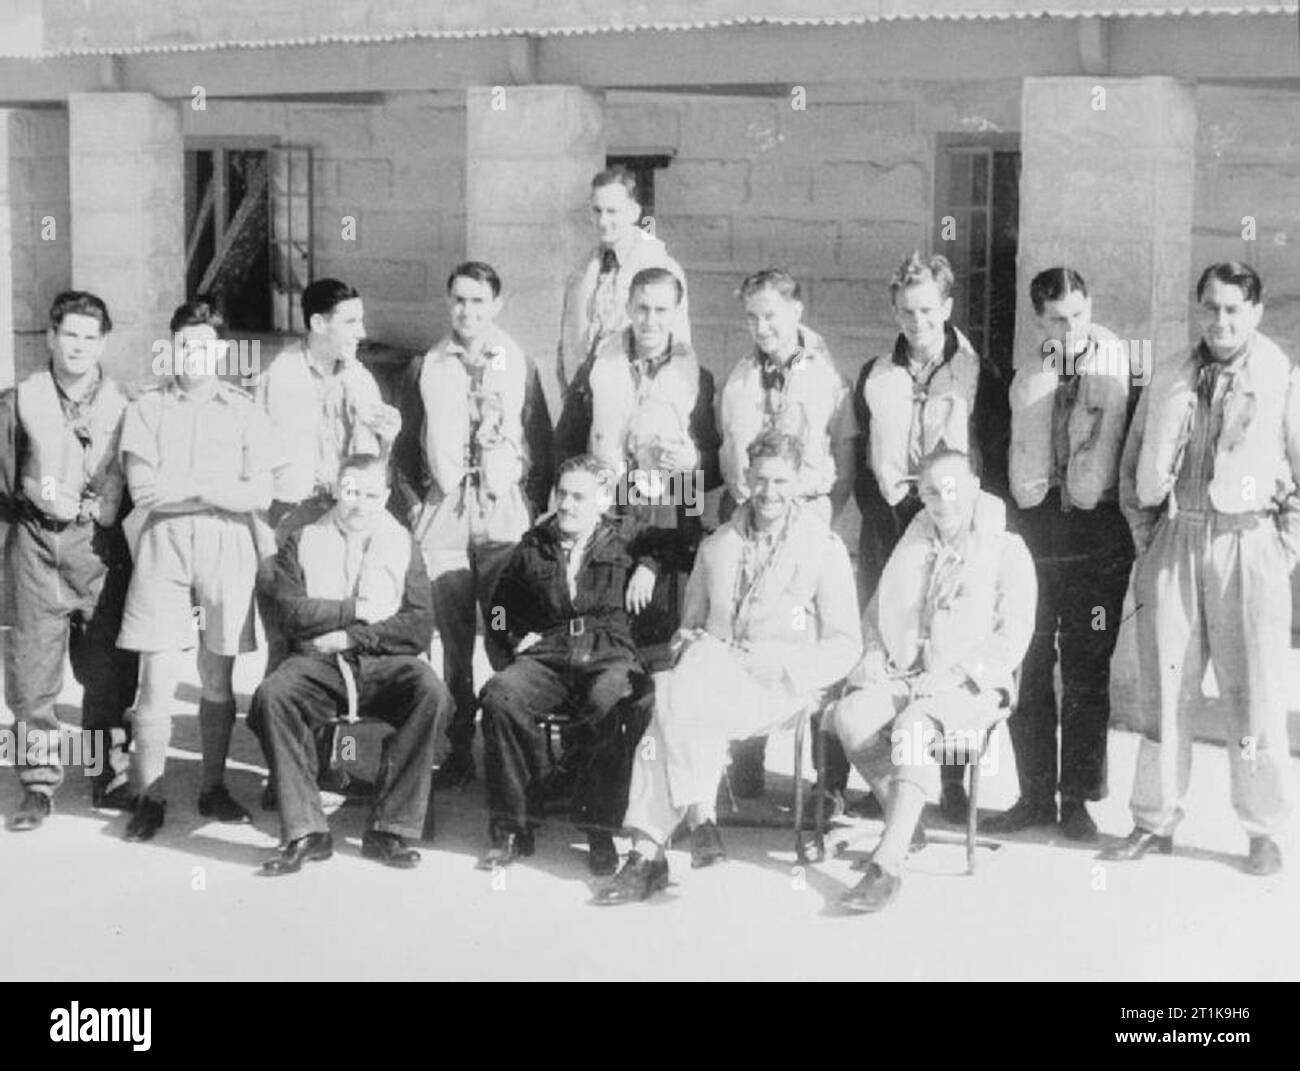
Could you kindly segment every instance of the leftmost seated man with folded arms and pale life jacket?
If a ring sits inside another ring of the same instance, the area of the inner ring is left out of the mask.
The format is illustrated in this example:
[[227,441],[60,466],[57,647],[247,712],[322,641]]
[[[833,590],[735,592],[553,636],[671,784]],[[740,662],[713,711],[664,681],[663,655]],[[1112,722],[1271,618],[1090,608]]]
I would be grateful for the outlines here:
[[282,846],[263,873],[296,873],[334,850],[316,788],[317,736],[344,712],[378,717],[384,742],[361,854],[413,867],[429,799],[434,725],[451,695],[419,655],[433,636],[424,556],[385,510],[387,461],[351,456],[330,511],[286,539],[264,595],[274,603],[290,654],[252,697],[248,728],[280,788]]

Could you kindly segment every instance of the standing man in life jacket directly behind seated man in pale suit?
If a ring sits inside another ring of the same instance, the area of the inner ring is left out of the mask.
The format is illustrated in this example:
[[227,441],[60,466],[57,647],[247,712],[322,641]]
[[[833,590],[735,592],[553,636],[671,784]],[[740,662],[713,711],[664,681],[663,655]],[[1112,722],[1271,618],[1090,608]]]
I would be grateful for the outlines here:
[[[827,524],[838,516],[853,481],[857,425],[849,383],[826,341],[802,322],[798,282],[781,268],[755,272],[740,285],[754,348],[732,368],[719,404],[722,517],[749,499],[746,450],[766,430],[794,435],[802,447],[798,495]],[[732,788],[741,798],[763,794],[763,737],[732,745]],[[848,777],[848,767],[833,767]],[[829,786],[842,789],[832,775]]]

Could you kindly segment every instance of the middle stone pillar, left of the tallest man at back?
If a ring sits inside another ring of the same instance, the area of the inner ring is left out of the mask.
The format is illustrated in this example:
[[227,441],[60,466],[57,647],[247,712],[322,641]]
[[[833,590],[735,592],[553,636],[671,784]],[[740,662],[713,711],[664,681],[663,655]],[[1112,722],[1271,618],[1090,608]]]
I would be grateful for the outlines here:
[[564,279],[594,243],[592,175],[604,166],[604,96],[576,86],[467,91],[465,250],[502,276],[502,326],[541,370],[559,419],[555,347]]

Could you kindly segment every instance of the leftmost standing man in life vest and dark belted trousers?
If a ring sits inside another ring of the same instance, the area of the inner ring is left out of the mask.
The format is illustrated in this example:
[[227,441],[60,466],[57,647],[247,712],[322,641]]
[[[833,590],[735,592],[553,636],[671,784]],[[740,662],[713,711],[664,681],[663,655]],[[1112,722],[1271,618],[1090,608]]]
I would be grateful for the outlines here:
[[[22,802],[13,831],[36,829],[62,781],[58,717],[64,654],[82,685],[82,729],[99,733],[104,769],[96,807],[129,810],[126,708],[136,658],[117,650],[131,558],[118,525],[124,498],[118,439],[125,389],[100,359],[113,329],[94,294],[68,290],[49,309],[49,367],[0,395],[12,438],[0,442],[6,476],[0,503],[9,533],[6,586],[13,629],[5,643],[5,703],[27,747],[18,766]],[[40,745],[46,746],[42,747]]]

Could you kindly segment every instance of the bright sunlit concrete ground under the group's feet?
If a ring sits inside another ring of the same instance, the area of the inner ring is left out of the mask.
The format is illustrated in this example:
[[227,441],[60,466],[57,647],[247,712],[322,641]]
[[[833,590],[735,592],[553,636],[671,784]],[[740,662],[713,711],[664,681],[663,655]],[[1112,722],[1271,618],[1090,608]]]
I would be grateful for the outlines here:
[[[260,672],[257,656],[239,665],[240,711]],[[75,721],[75,685],[64,702]],[[278,840],[276,816],[256,808],[260,751],[240,721],[228,782],[255,808],[255,824],[200,819],[196,702],[191,681],[178,693],[168,820],[153,842],[125,844],[126,819],[92,810],[77,769],[39,832],[0,832],[0,979],[1300,977],[1300,837],[1292,829],[1283,840],[1280,876],[1242,872],[1245,837],[1228,805],[1225,754],[1212,745],[1196,746],[1171,858],[1101,864],[1096,847],[1024,834],[996,855],[980,853],[967,876],[963,849],[936,844],[910,860],[897,903],[857,916],[836,903],[857,879],[852,855],[805,871],[788,832],[725,829],[727,864],[694,872],[689,855],[673,851],[667,894],[597,909],[585,841],[562,818],[532,860],[495,877],[474,870],[481,781],[438,794],[437,836],[413,872],[363,859],[364,808],[334,810],[339,799],[328,797],[335,857],[292,877],[255,876]],[[790,751],[788,734],[768,745],[771,810],[788,803]],[[1130,829],[1135,754],[1132,734],[1112,733],[1112,794],[1093,808],[1105,837]],[[982,810],[1015,795],[1005,729],[997,759]],[[0,810],[18,798],[5,771]],[[862,821],[831,840],[852,836],[857,853],[879,828]]]

